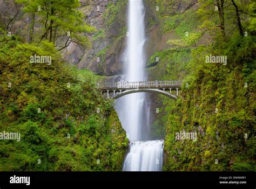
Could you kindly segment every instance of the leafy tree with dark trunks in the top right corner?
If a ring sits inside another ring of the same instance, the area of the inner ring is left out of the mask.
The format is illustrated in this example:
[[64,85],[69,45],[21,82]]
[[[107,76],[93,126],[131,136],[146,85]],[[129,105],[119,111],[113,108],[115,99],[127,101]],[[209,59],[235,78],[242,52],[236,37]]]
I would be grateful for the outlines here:
[[[197,14],[203,21],[200,28],[205,31],[217,31],[219,28],[224,40],[228,38],[227,35],[231,31],[237,28],[240,36],[244,36],[244,30],[255,17],[253,12],[250,12],[250,7],[253,7],[253,4],[245,4],[241,0],[199,0],[200,8]],[[248,19],[250,17],[251,20]],[[216,20],[219,24],[216,23]]]

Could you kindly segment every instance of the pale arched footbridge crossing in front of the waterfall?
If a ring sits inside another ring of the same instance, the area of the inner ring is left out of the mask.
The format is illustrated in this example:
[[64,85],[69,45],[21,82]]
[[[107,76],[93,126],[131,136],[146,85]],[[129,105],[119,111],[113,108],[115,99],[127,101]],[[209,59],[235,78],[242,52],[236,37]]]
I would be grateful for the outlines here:
[[[118,99],[132,93],[157,93],[176,100],[182,81],[138,81],[138,82],[104,82],[98,83],[98,89],[107,98]],[[175,90],[176,94],[172,94]]]

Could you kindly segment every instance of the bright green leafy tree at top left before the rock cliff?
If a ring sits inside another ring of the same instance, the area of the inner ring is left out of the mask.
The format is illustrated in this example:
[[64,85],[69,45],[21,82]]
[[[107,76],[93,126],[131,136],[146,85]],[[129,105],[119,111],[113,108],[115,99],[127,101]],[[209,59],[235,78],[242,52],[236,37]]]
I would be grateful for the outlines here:
[[[19,0],[24,4],[24,11],[29,13],[28,41],[33,36],[35,22],[40,26],[37,33],[39,40],[49,40],[58,46],[59,50],[68,47],[72,42],[81,46],[90,46],[85,33],[95,31],[95,28],[85,23],[79,0]],[[37,19],[35,20],[35,16]]]

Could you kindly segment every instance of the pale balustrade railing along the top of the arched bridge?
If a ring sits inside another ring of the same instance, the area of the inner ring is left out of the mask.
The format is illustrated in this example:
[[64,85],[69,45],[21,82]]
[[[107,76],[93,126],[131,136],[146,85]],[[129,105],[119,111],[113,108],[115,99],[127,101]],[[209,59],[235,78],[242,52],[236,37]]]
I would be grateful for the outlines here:
[[138,82],[103,82],[98,83],[101,90],[111,89],[143,89],[143,88],[172,88],[181,87],[182,81],[138,81]]

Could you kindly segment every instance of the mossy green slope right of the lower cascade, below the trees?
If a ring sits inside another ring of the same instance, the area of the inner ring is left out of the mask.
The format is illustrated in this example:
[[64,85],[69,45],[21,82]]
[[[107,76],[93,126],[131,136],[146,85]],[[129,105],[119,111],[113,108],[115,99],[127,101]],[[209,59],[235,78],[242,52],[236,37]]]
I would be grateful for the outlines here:
[[[217,42],[192,51],[188,87],[184,83],[176,104],[164,101],[169,120],[164,170],[255,171],[254,44],[255,37],[234,34],[222,47]],[[213,50],[227,55],[226,66],[205,63],[205,52]],[[197,142],[175,142],[174,134],[183,129],[196,130]]]

